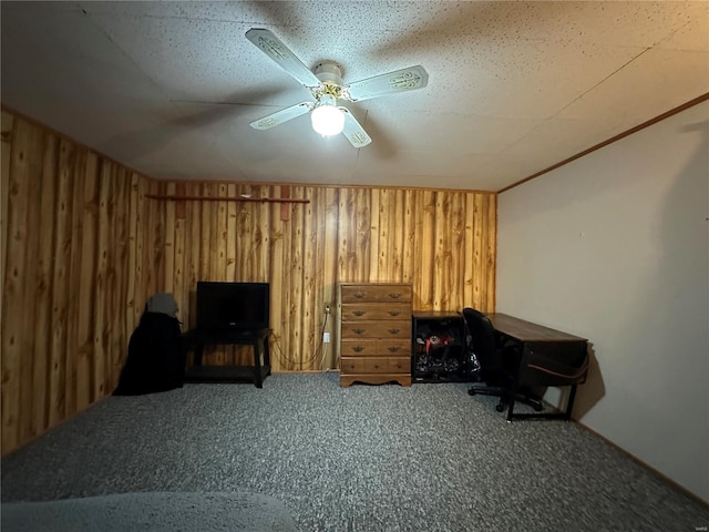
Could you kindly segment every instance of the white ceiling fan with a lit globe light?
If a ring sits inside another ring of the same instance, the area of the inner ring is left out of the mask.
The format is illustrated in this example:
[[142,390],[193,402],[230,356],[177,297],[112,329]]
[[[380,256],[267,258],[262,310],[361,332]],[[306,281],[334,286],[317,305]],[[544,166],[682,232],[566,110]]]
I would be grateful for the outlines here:
[[251,122],[249,125],[256,130],[269,130],[310,113],[316,132],[326,136],[342,133],[354,147],[362,147],[372,140],[354,115],[347,108],[337,104],[338,100],[360,102],[414,91],[423,89],[429,81],[423,66],[415,65],[345,84],[342,66],[333,61],[323,61],[310,71],[270,30],[251,28],[246,32],[246,38],[308,89],[315,99],[314,102],[297,103]]

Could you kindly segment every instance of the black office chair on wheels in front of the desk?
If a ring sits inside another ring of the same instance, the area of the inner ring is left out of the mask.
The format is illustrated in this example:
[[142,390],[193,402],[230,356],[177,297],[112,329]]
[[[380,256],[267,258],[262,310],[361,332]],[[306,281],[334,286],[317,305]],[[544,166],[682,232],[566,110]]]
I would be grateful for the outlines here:
[[508,405],[524,402],[534,410],[542,410],[542,401],[524,392],[517,383],[517,370],[522,358],[520,346],[504,342],[487,317],[474,308],[464,308],[463,318],[471,336],[472,350],[480,365],[479,379],[467,390],[471,396],[495,396],[495,407],[502,412]]

